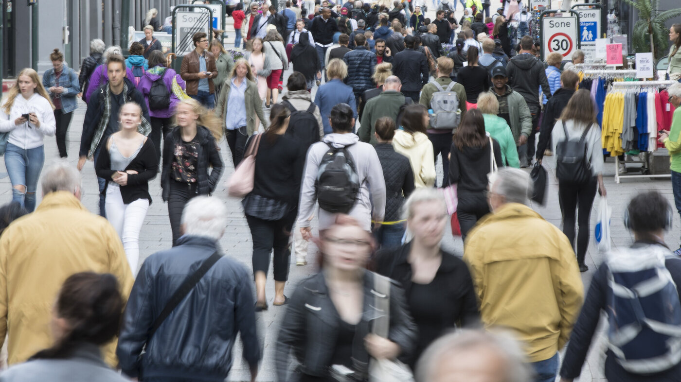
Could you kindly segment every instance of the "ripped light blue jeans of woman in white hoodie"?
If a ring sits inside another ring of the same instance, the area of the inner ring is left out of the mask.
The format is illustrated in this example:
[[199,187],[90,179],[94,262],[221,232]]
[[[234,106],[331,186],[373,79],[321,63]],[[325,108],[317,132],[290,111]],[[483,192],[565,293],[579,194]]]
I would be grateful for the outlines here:
[[[43,146],[24,150],[7,143],[5,168],[12,182],[12,201],[19,202],[29,212],[35,210],[35,190],[38,187],[43,163],[45,163]],[[24,186],[25,190],[20,191],[15,188],[16,186]]]

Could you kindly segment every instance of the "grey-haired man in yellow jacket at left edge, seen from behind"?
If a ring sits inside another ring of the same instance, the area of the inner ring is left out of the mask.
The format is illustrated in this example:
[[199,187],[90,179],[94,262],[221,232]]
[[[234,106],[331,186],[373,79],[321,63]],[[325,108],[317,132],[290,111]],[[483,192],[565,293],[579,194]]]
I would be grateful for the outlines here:
[[[7,362],[26,361],[50,347],[52,305],[62,283],[78,272],[111,273],[125,300],[133,276],[114,228],[80,204],[80,173],[67,164],[49,168],[35,212],[10,224],[0,238],[0,346]],[[104,351],[115,366],[116,343]]]

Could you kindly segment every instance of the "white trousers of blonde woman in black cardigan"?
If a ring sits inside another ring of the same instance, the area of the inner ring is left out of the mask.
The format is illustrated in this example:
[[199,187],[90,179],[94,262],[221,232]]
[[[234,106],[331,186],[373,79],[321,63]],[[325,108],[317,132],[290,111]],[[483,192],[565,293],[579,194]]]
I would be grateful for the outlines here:
[[149,201],[138,199],[130,204],[123,204],[119,187],[106,187],[106,219],[114,226],[118,237],[123,242],[123,249],[127,256],[133,276],[137,276],[137,266],[140,261],[140,229],[149,208]]

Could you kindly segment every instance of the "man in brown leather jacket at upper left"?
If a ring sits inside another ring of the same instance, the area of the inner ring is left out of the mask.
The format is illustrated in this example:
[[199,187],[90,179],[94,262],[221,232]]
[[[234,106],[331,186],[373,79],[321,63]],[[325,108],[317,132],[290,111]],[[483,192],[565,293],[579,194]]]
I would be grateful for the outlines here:
[[208,51],[208,36],[204,32],[194,33],[193,52],[182,60],[180,76],[187,83],[187,95],[199,101],[208,109],[215,109],[215,85],[217,78],[215,56]]

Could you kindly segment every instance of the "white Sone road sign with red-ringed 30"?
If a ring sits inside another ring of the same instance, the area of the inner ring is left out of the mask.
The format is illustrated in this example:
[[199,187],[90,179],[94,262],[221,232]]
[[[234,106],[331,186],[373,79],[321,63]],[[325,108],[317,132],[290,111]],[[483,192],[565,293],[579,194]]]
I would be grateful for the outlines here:
[[559,10],[545,10],[541,12],[541,59],[551,52],[558,52],[569,60],[571,54],[580,48],[580,16],[577,12],[569,11],[571,16],[546,16],[550,13],[561,13]]

